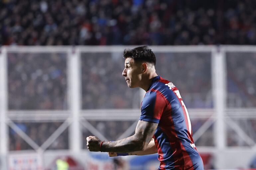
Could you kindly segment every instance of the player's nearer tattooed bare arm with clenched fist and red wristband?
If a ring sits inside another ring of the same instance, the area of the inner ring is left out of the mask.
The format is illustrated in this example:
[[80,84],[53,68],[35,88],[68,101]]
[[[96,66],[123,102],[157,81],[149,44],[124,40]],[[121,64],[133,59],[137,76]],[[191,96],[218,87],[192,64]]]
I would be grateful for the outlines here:
[[158,123],[139,120],[135,134],[128,138],[116,142],[103,142],[101,149],[101,141],[97,137],[87,137],[87,146],[90,151],[131,153],[145,150],[152,140],[157,129]]

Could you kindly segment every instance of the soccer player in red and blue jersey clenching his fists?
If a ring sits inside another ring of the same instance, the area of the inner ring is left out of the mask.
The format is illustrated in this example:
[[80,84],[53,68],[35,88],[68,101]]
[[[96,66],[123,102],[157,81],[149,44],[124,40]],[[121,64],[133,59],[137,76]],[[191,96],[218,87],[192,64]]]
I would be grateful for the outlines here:
[[86,138],[90,151],[109,156],[158,153],[159,170],[203,170],[192,139],[188,110],[178,88],[158,76],[155,54],[147,46],[125,49],[122,75],[128,87],[146,91],[135,134],[115,142]]

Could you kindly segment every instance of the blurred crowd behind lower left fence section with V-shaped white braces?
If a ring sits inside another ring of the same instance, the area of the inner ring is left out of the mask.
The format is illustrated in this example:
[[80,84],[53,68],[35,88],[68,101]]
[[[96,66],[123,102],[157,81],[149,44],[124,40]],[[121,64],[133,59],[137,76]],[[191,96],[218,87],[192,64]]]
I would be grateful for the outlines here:
[[[37,145],[41,146],[61,126],[63,122],[48,123],[16,123],[25,134]],[[40,133],[39,133],[40,132]],[[9,129],[9,149],[28,150],[33,149],[13,129]],[[68,149],[68,129],[53,142],[47,149]]]

